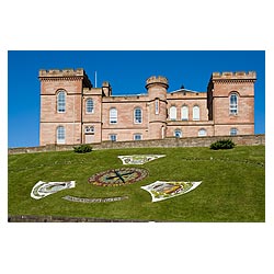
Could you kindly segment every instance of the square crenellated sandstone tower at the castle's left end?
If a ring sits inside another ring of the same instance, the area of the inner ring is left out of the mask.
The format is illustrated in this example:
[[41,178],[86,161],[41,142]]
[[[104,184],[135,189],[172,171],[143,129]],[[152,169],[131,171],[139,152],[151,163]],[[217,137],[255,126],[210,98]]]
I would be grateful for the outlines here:
[[39,70],[39,144],[82,142],[82,93],[92,88],[83,69]]

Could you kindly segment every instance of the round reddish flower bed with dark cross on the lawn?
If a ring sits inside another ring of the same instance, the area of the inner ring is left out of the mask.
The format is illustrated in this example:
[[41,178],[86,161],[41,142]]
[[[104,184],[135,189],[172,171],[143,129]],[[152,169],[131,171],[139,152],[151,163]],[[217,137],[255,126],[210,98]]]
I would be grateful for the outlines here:
[[89,178],[89,183],[100,186],[118,186],[141,181],[148,175],[146,169],[122,168],[102,171]]

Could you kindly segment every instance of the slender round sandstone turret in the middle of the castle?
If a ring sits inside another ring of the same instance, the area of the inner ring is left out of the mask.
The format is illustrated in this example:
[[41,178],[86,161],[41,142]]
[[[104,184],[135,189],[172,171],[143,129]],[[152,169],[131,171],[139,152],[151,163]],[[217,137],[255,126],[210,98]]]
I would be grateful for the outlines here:
[[148,135],[149,139],[162,139],[167,130],[167,90],[169,82],[165,77],[152,76],[147,79],[148,90]]

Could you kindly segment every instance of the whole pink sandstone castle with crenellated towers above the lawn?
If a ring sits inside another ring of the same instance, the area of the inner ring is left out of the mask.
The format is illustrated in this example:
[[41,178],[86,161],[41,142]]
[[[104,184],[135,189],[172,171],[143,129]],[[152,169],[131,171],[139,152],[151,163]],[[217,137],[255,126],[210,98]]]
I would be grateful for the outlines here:
[[168,79],[152,76],[147,94],[118,96],[109,82],[93,88],[83,69],[38,78],[41,146],[254,134],[254,71],[214,72],[207,92],[168,92]]

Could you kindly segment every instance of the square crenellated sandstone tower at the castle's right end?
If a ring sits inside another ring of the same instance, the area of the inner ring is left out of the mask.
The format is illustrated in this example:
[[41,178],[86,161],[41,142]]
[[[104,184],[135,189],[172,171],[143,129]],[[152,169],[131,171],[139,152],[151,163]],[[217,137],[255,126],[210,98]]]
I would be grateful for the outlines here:
[[212,75],[207,106],[216,136],[254,134],[255,80],[254,71]]

